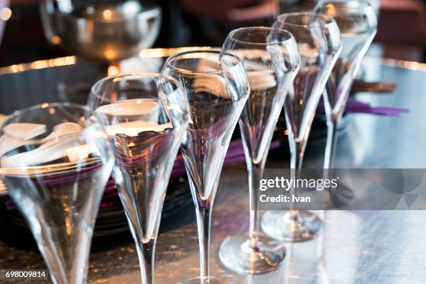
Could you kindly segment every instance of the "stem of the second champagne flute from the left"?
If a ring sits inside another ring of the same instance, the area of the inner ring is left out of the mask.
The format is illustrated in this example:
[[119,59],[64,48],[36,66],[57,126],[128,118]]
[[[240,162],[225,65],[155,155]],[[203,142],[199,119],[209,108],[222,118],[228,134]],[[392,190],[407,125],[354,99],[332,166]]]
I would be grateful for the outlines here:
[[150,239],[149,242],[143,242],[141,239],[136,242],[139,264],[141,265],[142,284],[154,283],[154,255],[156,238]]

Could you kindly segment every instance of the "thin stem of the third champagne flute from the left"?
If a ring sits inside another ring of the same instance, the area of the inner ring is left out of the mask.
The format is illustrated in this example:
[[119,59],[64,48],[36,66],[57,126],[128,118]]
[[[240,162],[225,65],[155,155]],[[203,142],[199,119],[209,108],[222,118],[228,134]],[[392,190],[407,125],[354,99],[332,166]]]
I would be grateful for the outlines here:
[[200,284],[210,282],[210,223],[212,221],[212,203],[198,200],[196,206],[198,242],[200,242]]

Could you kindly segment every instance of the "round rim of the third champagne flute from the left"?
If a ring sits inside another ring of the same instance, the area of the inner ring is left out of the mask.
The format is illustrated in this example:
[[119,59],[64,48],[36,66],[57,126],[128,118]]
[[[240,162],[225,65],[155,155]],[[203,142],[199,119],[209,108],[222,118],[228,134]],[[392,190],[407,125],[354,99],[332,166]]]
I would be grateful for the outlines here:
[[[221,54],[225,54],[226,56],[230,56],[232,58],[235,58],[237,61],[234,65],[232,66],[228,66],[225,68],[220,68],[220,70],[214,70],[214,71],[190,71],[190,70],[186,70],[186,69],[182,69],[182,68],[175,68],[173,65],[171,65],[171,61],[175,58],[177,58],[178,56],[183,56],[183,55],[187,55],[187,54],[218,54],[219,56],[221,56]],[[167,68],[171,68],[171,70],[175,70],[177,72],[183,73],[183,74],[194,74],[194,75],[214,75],[214,74],[222,74],[224,71],[226,70],[231,70],[232,68],[237,67],[238,65],[242,65],[242,61],[241,59],[236,56],[235,54],[231,54],[230,52],[222,52],[221,50],[203,50],[203,49],[196,49],[196,50],[189,50],[187,52],[179,52],[177,54],[173,54],[171,56],[168,56],[168,58],[166,59],[166,62],[164,63],[164,66],[167,66]],[[164,68],[164,67],[163,67]],[[161,72],[162,73],[162,72]]]

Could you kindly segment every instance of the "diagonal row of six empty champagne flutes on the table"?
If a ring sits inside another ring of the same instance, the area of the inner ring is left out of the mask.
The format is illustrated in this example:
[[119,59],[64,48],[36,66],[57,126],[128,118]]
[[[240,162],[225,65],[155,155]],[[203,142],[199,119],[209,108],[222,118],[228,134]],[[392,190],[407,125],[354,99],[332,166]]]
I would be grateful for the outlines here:
[[[333,16],[342,10],[342,18],[347,17],[347,26],[358,36],[363,21],[370,19],[359,16],[358,25],[352,14],[364,13],[360,7],[365,6],[369,16],[368,4],[345,3],[329,1],[319,8],[331,10],[333,6]],[[349,36],[352,33],[347,32]],[[345,84],[352,83],[350,78],[368,44],[363,39],[356,49],[348,47],[342,59],[345,70],[350,71],[343,72],[349,74]],[[180,147],[196,205],[200,242],[200,278],[188,283],[223,283],[210,277],[210,221],[223,159],[237,120],[253,195],[283,105],[290,132],[291,167],[301,168],[315,109],[341,48],[339,29],[331,17],[284,14],[272,28],[232,31],[222,52],[171,56],[161,75],[129,74],[98,82],[88,102],[95,113],[70,104],[45,104],[11,116],[3,127],[1,148],[6,150],[1,152],[1,176],[24,212],[54,282],[84,283],[86,279],[93,224],[114,158],[113,178],[136,242],[143,283],[153,282],[161,208]],[[349,92],[347,87],[344,90],[337,94],[327,88],[324,94],[324,103],[330,106],[334,105],[328,98],[339,97],[333,102],[339,103],[340,116]],[[327,112],[328,117],[332,114]],[[102,133],[102,125],[107,134]],[[38,131],[31,136],[22,127]],[[53,152],[55,159],[49,159]],[[88,166],[89,159],[97,159],[99,164]],[[226,267],[242,273],[274,270],[282,263],[285,250],[283,246],[270,248],[269,237],[259,232],[255,203],[250,214],[248,237],[226,239],[219,257]],[[276,239],[302,241],[315,237],[321,223],[310,212],[267,212],[262,228]]]

